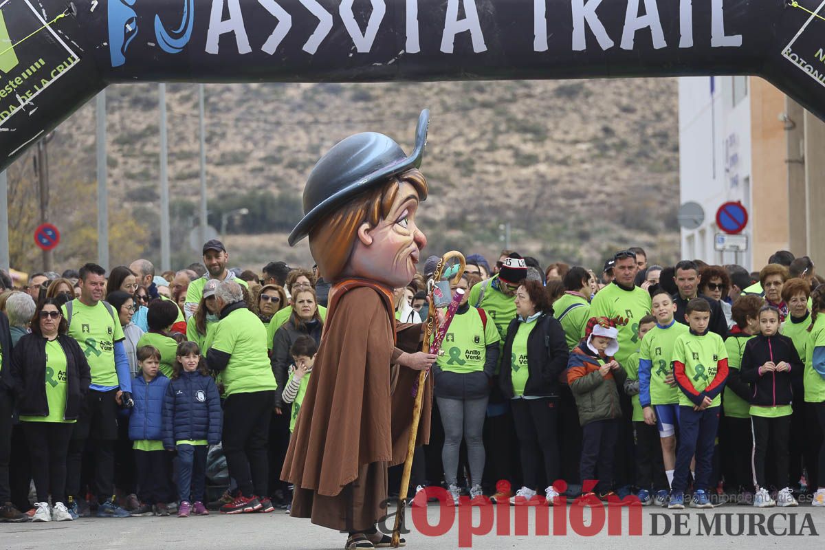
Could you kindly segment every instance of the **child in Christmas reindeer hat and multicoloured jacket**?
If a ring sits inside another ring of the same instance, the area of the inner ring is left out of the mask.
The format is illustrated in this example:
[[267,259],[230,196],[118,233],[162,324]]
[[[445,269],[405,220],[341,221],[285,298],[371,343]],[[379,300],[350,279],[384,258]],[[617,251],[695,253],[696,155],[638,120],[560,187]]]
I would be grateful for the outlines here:
[[[622,416],[619,387],[627,379],[613,355],[619,350],[619,331],[605,317],[587,322],[587,336],[570,352],[567,379],[576,397],[579,422],[582,424],[582,458],[579,463],[582,482],[596,479],[596,492],[602,499],[615,495],[613,451]],[[617,385],[618,384],[618,385]],[[592,491],[584,496],[592,496]]]

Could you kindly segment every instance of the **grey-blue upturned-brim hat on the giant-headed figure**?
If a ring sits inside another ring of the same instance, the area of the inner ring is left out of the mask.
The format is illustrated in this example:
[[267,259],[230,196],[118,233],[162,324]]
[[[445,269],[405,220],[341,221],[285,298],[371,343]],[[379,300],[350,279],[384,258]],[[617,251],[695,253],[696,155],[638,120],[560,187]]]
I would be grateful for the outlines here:
[[290,246],[309,235],[324,216],[390,176],[421,167],[430,111],[418,116],[413,154],[376,132],[351,135],[334,145],[309,173],[304,186],[304,219],[290,233]]

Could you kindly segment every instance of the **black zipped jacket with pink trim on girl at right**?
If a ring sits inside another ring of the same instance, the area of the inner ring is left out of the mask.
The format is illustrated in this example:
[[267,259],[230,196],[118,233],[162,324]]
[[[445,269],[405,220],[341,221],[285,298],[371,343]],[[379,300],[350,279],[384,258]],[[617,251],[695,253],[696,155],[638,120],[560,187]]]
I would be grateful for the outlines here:
[[[790,372],[759,374],[759,367],[773,361],[774,364],[790,364]],[[793,380],[801,377],[804,364],[799,359],[794,341],[788,336],[755,336],[745,345],[742,355],[742,380],[751,384],[748,401],[759,407],[790,405],[794,400]],[[799,396],[802,397],[802,396]]]

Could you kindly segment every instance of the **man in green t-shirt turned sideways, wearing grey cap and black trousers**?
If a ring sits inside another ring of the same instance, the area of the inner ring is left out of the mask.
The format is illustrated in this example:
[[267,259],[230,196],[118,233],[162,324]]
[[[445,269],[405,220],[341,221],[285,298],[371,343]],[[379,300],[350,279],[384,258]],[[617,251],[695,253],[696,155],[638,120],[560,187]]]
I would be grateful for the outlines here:
[[221,512],[269,510],[269,423],[277,384],[266,353],[266,327],[247,309],[237,281],[215,289],[220,320],[206,362],[224,383],[223,444],[241,495]]

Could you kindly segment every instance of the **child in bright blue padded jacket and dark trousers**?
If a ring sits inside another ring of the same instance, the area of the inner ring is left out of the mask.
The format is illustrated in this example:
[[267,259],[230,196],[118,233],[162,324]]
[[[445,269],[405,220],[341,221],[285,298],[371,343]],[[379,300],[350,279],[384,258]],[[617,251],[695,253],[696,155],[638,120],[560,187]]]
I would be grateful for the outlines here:
[[153,346],[137,350],[139,374],[132,381],[134,407],[130,409],[129,439],[134,441],[134,465],[137,472],[140,505],[134,516],[169,515],[169,458],[161,440],[163,397],[169,378],[160,372],[160,351]]

